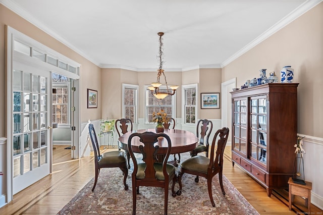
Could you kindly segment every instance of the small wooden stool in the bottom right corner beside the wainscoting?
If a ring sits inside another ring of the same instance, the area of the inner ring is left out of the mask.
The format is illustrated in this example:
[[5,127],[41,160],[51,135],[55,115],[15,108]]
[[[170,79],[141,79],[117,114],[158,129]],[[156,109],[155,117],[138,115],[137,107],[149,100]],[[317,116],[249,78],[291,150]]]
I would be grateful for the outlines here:
[[292,210],[292,202],[294,201],[294,195],[298,195],[305,198],[305,205],[307,204],[308,213],[310,213],[312,182],[305,181],[305,185],[297,184],[297,183],[294,183],[293,179],[290,177],[288,179],[288,184],[289,184],[289,210]]

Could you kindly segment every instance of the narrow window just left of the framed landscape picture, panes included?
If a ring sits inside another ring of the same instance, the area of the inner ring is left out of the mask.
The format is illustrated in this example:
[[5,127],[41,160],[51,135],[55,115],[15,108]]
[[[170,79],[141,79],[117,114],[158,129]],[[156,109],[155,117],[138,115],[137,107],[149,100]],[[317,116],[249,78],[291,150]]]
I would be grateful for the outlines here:
[[197,119],[197,84],[183,85],[183,123],[196,123]]

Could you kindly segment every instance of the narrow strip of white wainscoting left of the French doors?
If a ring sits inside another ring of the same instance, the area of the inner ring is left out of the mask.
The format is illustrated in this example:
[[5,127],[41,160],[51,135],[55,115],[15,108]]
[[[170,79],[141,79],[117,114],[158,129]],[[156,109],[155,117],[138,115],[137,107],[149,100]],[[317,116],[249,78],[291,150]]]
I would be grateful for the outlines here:
[[4,175],[0,175],[0,207],[4,206],[7,202],[7,138],[0,137],[0,172]]

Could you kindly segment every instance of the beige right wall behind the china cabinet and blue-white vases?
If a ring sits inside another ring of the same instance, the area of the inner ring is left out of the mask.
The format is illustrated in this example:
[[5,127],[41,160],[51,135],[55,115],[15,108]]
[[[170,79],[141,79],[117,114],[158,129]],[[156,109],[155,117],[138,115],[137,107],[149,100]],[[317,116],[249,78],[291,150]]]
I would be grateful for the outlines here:
[[[297,132],[323,137],[323,3],[314,7],[222,69],[222,82],[237,77],[237,86],[290,65],[298,86]],[[267,75],[268,77],[268,75]]]

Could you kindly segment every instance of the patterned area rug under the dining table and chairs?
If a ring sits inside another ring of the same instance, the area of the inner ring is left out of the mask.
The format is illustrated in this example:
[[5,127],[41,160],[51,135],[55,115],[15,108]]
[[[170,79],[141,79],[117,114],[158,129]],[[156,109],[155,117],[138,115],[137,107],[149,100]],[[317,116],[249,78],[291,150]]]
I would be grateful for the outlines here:
[[[188,157],[188,153],[181,154],[182,160]],[[123,175],[119,168],[101,169],[94,192],[91,190],[93,178],[58,214],[132,214],[131,169],[127,178],[128,190],[123,188]],[[170,183],[168,214],[259,214],[225,176],[223,186],[226,195],[222,194],[219,176],[214,176],[212,180],[215,207],[212,207],[208,197],[206,179],[200,177],[196,183],[194,178],[189,174],[183,175],[182,194],[176,197],[172,196]],[[178,189],[177,183],[175,190]],[[136,213],[163,214],[164,189],[140,187]]]

